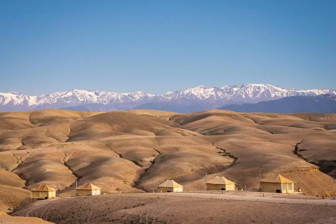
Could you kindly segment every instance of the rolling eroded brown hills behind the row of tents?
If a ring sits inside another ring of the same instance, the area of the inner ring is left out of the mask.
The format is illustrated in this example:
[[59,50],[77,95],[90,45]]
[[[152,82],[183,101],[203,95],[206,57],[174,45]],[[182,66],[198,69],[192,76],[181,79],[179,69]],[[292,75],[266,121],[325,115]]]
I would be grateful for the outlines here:
[[259,171],[281,173],[305,194],[331,195],[335,160],[336,114],[0,113],[0,209],[27,204],[31,183],[62,195],[74,195],[76,180],[108,193],[153,191],[166,179],[204,190],[206,172],[250,189]]

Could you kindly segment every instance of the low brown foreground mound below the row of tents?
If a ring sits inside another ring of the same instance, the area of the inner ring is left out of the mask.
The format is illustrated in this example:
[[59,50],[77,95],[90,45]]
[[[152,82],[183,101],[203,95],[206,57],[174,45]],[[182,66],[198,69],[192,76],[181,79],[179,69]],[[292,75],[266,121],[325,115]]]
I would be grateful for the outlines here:
[[336,207],[125,194],[40,201],[13,215],[57,224],[334,224]]

